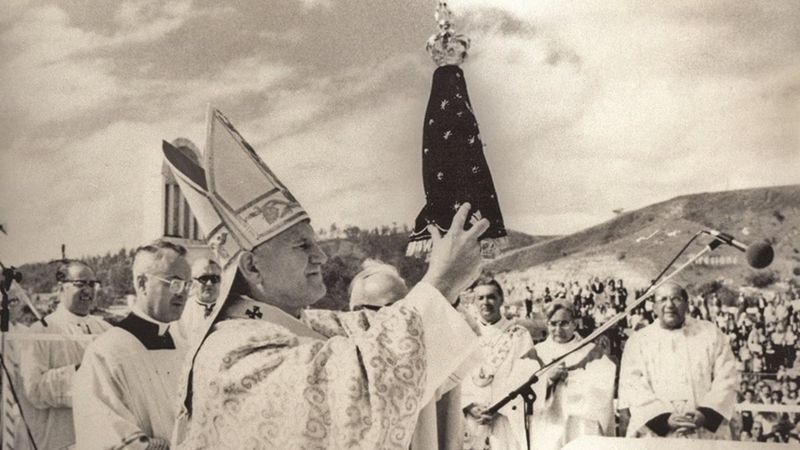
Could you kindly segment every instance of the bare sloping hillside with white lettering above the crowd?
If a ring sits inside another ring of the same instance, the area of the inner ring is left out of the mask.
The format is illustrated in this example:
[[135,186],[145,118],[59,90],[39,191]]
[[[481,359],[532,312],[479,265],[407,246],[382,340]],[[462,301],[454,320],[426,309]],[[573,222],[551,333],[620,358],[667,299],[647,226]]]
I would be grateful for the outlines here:
[[[630,211],[567,236],[535,243],[494,261],[496,272],[527,272],[533,278],[557,279],[616,275],[646,282],[699,230],[714,228],[752,243],[767,240],[775,249],[770,270],[782,276],[800,271],[800,185],[676,197]],[[688,255],[710,239],[699,238]],[[754,269],[744,255],[720,248],[683,274],[688,283],[716,278],[743,279]],[[602,273],[601,273],[602,272]]]

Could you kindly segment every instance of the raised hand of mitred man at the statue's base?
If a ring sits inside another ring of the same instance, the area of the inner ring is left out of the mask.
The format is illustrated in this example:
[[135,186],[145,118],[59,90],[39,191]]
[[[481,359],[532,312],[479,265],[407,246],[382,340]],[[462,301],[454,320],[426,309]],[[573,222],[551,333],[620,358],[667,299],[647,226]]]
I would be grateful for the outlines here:
[[450,302],[475,281],[481,273],[481,246],[478,238],[489,229],[489,221],[481,219],[464,230],[470,204],[458,208],[450,230],[442,237],[439,230],[429,226],[433,241],[428,271],[422,278],[439,290]]

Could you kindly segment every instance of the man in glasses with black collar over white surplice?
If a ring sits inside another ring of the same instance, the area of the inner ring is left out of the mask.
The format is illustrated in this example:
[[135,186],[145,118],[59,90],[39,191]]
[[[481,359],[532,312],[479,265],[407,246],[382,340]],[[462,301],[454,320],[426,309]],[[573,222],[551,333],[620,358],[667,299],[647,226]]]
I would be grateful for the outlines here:
[[75,381],[77,448],[166,449],[188,344],[170,333],[191,286],[186,249],[139,247],[131,313],[86,350]]

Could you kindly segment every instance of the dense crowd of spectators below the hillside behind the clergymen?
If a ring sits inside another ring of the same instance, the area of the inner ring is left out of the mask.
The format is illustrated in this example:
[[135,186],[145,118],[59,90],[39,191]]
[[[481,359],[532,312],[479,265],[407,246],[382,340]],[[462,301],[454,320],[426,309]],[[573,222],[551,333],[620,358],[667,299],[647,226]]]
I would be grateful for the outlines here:
[[[536,319],[550,302],[570,301],[579,315],[577,331],[581,336],[588,336],[625,311],[629,301],[643,294],[641,288],[629,294],[623,280],[611,277],[538,284],[518,274],[501,274],[498,278],[516,302],[506,309],[509,317]],[[800,348],[798,300],[800,287],[794,283],[777,292],[742,287],[735,302],[727,305],[715,292],[689,297],[688,315],[715,324],[728,338],[736,357],[740,412],[733,426],[741,440],[796,442],[800,435],[800,409],[780,412],[758,406],[800,404],[800,370],[795,366]],[[654,300],[648,298],[604,334],[613,361],[621,360],[628,337],[652,323],[654,313]],[[746,405],[756,405],[756,411],[747,410]]]

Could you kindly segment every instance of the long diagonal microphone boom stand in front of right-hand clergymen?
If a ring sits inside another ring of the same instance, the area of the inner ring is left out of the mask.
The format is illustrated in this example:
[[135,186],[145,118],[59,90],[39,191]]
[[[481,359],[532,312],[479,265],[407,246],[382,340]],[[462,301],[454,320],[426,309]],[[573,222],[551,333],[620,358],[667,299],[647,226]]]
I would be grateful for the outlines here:
[[[486,410],[486,412],[489,413],[489,414],[497,414],[497,412],[501,408],[503,408],[505,405],[507,405],[511,400],[516,398],[518,395],[521,395],[522,398],[525,399],[526,401],[531,402],[531,405],[532,405],[533,402],[536,400],[536,394],[534,394],[534,392],[533,392],[533,385],[536,384],[539,381],[539,375],[541,375],[547,369],[549,369],[549,368],[553,367],[554,365],[560,363],[561,361],[566,359],[569,355],[571,355],[571,354],[577,352],[578,350],[580,350],[580,349],[586,347],[587,345],[589,345],[593,340],[597,339],[601,334],[605,333],[608,329],[610,329],[611,327],[616,325],[620,320],[625,318],[625,316],[630,314],[637,306],[639,306],[642,303],[644,303],[644,301],[652,294],[652,292],[655,291],[656,289],[658,289],[662,284],[666,283],[667,281],[672,279],[675,275],[677,275],[678,273],[683,271],[685,268],[689,267],[692,263],[694,263],[701,256],[705,255],[708,252],[711,252],[711,251],[715,250],[717,247],[719,247],[720,245],[724,244],[723,241],[721,241],[719,239],[714,239],[711,243],[709,243],[708,245],[703,247],[703,249],[700,252],[698,252],[697,254],[695,254],[692,257],[690,257],[689,260],[686,261],[683,265],[681,265],[680,267],[675,269],[672,273],[667,275],[664,279],[661,279],[661,277],[664,276],[664,274],[667,272],[667,270],[669,270],[669,268],[672,267],[672,265],[675,263],[675,261],[677,261],[678,258],[680,258],[680,256],[683,254],[683,252],[686,251],[687,248],[689,248],[689,245],[691,245],[692,242],[694,242],[694,240],[697,239],[697,237],[700,236],[702,233],[703,233],[702,231],[699,231],[694,236],[692,236],[692,238],[689,240],[689,242],[687,242],[686,245],[684,245],[683,248],[678,252],[678,254],[675,255],[674,258],[672,258],[672,261],[670,261],[669,264],[667,264],[667,266],[664,268],[664,270],[662,270],[661,273],[655,279],[653,279],[650,282],[650,285],[647,287],[647,289],[645,289],[645,292],[642,293],[636,300],[634,300],[633,303],[631,303],[627,308],[625,308],[625,311],[622,311],[622,312],[618,313],[616,316],[614,316],[611,319],[609,319],[608,322],[606,322],[603,325],[601,325],[600,327],[598,327],[589,336],[586,336],[586,338],[584,338],[580,342],[580,344],[577,347],[575,347],[574,349],[562,353],[561,355],[559,355],[558,357],[556,357],[555,359],[553,359],[549,363],[547,363],[544,366],[542,366],[541,368],[539,368],[539,370],[534,372],[533,375],[531,375],[522,385],[520,385],[519,387],[517,387],[513,391],[509,392],[505,397],[503,397],[502,399],[497,401],[495,404],[490,406]],[[531,413],[532,412],[533,412],[533,407],[531,406]],[[529,446],[530,446],[530,444],[529,444]]]

